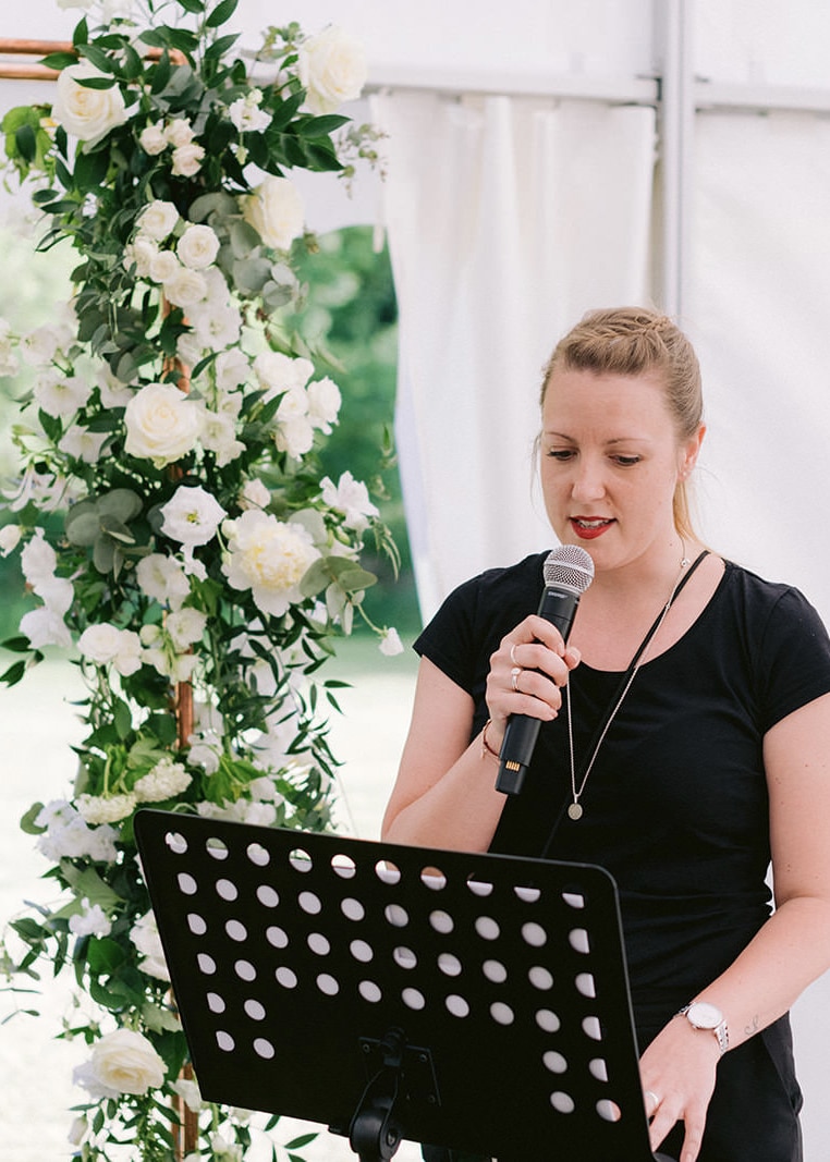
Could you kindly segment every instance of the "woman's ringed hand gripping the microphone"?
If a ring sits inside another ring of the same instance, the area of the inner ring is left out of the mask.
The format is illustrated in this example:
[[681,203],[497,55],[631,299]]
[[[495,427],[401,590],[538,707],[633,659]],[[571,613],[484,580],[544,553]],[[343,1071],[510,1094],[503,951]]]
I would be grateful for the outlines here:
[[568,646],[554,625],[531,614],[501,639],[489,660],[487,709],[488,739],[501,745],[511,715],[550,722],[561,706],[561,687],[580,662],[580,653]]

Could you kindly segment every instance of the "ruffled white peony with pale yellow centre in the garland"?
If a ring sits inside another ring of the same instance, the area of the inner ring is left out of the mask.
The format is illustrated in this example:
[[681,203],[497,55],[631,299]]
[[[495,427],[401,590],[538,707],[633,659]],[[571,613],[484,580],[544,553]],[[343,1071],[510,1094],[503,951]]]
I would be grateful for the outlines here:
[[301,525],[249,509],[222,531],[229,550],[222,571],[232,589],[250,589],[257,607],[276,617],[302,600],[300,581],[320,553]]

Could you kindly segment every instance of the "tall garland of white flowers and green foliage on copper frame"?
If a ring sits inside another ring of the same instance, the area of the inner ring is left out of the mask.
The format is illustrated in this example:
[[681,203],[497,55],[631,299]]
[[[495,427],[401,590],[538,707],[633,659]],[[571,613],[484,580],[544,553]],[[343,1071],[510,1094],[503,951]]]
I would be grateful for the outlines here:
[[245,1156],[248,1119],[187,1077],[133,817],[151,803],[329,827],[322,711],[341,683],[320,670],[366,617],[365,537],[395,558],[366,487],[322,475],[341,394],[289,322],[293,261],[315,241],[286,173],[350,178],[378,159],[371,127],[336,113],[359,94],[362,49],[292,23],[246,57],[227,31],[236,3],[64,2],[99,23],[85,14],[72,51],[45,59],[53,105],[2,122],[9,173],[48,223],[41,249],[70,243],[78,265],[59,321],[29,335],[0,321],[0,373],[34,367],[0,552],[20,552],[37,602],[1,680],[71,651],[86,737],[72,792],[23,819],[60,898],[14,919],[0,953],[14,978],[74,970],[83,1016],[63,1035],[90,1047],[72,1138],[91,1162],[116,1145],[180,1156],[176,1095],[189,1149]]

